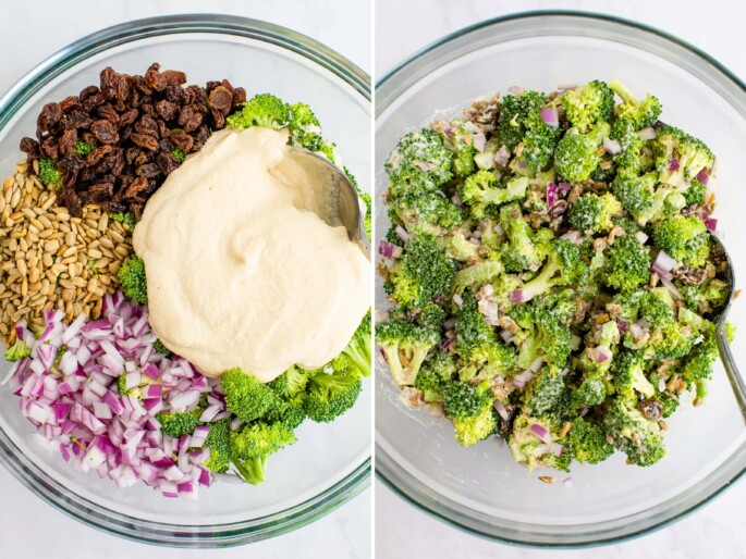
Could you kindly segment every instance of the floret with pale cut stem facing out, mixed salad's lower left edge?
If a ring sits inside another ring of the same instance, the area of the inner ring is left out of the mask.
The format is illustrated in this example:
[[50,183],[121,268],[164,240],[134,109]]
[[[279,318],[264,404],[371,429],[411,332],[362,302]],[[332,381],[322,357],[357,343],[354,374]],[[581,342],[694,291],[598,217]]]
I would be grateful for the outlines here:
[[386,355],[398,386],[411,386],[415,383],[428,351],[439,339],[437,331],[404,321],[381,322],[376,325],[376,341]]

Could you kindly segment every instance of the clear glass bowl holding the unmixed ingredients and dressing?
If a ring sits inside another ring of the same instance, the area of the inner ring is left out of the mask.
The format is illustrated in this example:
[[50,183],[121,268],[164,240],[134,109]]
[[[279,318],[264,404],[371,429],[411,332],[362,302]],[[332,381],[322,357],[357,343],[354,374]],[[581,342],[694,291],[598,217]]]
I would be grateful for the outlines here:
[[[98,84],[107,65],[143,74],[152,62],[186,72],[188,83],[228,78],[248,96],[271,91],[313,107],[325,135],[369,191],[370,85],[350,61],[276,25],[223,15],[179,15],[131,22],[58,52],[0,100],[0,171],[22,159],[44,103]],[[0,364],[0,377],[9,370]],[[306,422],[298,442],[270,458],[259,486],[218,483],[198,500],[167,499],[138,485],[121,490],[83,474],[29,433],[16,397],[0,388],[0,462],[48,502],[95,527],[151,544],[228,546],[303,526],[358,494],[370,473],[370,387],[333,423]]]

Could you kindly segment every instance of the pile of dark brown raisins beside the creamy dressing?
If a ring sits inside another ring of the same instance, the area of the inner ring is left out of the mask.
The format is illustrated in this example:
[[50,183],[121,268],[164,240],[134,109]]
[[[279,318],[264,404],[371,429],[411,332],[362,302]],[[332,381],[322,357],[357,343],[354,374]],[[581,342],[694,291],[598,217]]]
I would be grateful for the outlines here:
[[246,101],[230,82],[184,86],[186,74],[150,65],[144,76],[100,74],[100,85],[44,107],[36,138],[23,138],[29,163],[50,159],[61,173],[58,202],[72,215],[99,203],[139,220],[148,198],[225,116]]

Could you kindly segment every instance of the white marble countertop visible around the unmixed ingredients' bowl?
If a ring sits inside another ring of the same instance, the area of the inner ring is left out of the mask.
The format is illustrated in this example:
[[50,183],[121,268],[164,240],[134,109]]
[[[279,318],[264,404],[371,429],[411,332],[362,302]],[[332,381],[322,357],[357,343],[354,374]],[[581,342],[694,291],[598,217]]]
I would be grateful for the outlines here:
[[[367,0],[35,0],[0,2],[0,91],[62,47],[110,25],[173,13],[225,13],[265,20],[310,36],[370,72]],[[161,559],[261,557],[267,559],[370,557],[371,489],[323,519],[273,539],[220,550],[155,549],[86,527],[32,495],[0,467],[0,557],[37,559]]]

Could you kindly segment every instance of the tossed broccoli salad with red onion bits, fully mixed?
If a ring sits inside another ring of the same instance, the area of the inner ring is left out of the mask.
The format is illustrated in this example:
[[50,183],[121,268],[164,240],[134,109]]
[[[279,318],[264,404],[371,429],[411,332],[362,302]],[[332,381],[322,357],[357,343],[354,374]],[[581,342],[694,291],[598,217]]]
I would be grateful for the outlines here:
[[529,469],[650,465],[683,394],[705,398],[730,293],[714,157],[660,113],[616,82],[514,88],[390,154],[376,337],[403,399],[460,444],[499,435]]

